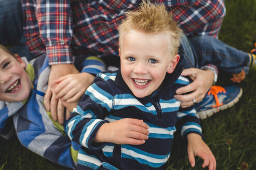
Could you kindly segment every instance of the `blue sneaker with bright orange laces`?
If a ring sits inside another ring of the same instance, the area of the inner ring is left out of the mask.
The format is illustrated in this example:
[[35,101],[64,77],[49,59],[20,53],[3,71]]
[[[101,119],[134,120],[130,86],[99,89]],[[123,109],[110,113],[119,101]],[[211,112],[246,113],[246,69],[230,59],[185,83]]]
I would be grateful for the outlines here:
[[233,106],[239,101],[242,95],[242,88],[239,86],[212,86],[206,93],[203,101],[195,105],[196,115],[199,119],[212,116],[215,112]]

